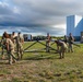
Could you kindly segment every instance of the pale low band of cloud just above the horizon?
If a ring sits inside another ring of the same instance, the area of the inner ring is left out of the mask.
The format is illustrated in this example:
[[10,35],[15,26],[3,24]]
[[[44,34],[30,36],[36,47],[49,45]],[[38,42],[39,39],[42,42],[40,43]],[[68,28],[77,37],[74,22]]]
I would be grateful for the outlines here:
[[[0,33],[3,34],[3,32],[12,33],[12,32],[21,32],[22,34],[32,34],[34,35],[47,35],[49,33],[51,36],[62,36],[66,31],[64,28],[55,28],[55,27],[23,27],[23,26],[0,26]],[[60,32],[60,33],[59,33]]]

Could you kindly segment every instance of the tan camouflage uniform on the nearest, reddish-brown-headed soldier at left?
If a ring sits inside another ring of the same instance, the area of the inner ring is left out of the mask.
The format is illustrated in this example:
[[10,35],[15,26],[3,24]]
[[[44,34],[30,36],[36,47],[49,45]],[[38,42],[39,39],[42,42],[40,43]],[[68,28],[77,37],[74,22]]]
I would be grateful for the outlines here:
[[12,65],[15,62],[15,56],[14,56],[14,44],[10,38],[7,38],[5,44],[8,44],[8,56],[9,56],[9,63]]

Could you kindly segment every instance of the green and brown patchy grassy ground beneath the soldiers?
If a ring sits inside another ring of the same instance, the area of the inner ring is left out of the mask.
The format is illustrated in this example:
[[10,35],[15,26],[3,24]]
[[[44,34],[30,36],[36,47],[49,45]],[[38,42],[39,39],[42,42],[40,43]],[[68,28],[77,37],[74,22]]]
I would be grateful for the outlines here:
[[[25,43],[24,48],[31,44]],[[12,66],[0,59],[0,82],[83,82],[83,44],[80,45],[64,59],[59,59],[54,50],[24,52],[23,59]],[[36,44],[29,50],[40,48],[45,46]]]

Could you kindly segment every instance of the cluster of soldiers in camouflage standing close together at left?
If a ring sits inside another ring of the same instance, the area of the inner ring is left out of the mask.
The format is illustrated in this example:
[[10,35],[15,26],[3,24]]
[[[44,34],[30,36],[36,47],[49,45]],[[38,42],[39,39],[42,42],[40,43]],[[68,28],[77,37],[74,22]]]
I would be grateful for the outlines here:
[[2,59],[4,59],[4,50],[7,50],[10,65],[16,62],[16,60],[19,59],[22,59],[23,43],[24,39],[20,32],[17,33],[17,35],[15,35],[15,32],[13,32],[12,34],[8,34],[7,32],[4,32],[1,39]]

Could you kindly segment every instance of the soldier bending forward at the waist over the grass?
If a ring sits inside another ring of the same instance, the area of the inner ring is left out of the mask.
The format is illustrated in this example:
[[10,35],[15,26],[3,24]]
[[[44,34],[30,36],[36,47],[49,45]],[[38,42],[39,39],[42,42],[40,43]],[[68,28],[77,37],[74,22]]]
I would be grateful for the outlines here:
[[57,44],[57,50],[60,54],[60,59],[64,58],[64,51],[67,50],[67,44],[62,40],[55,40],[55,43]]

